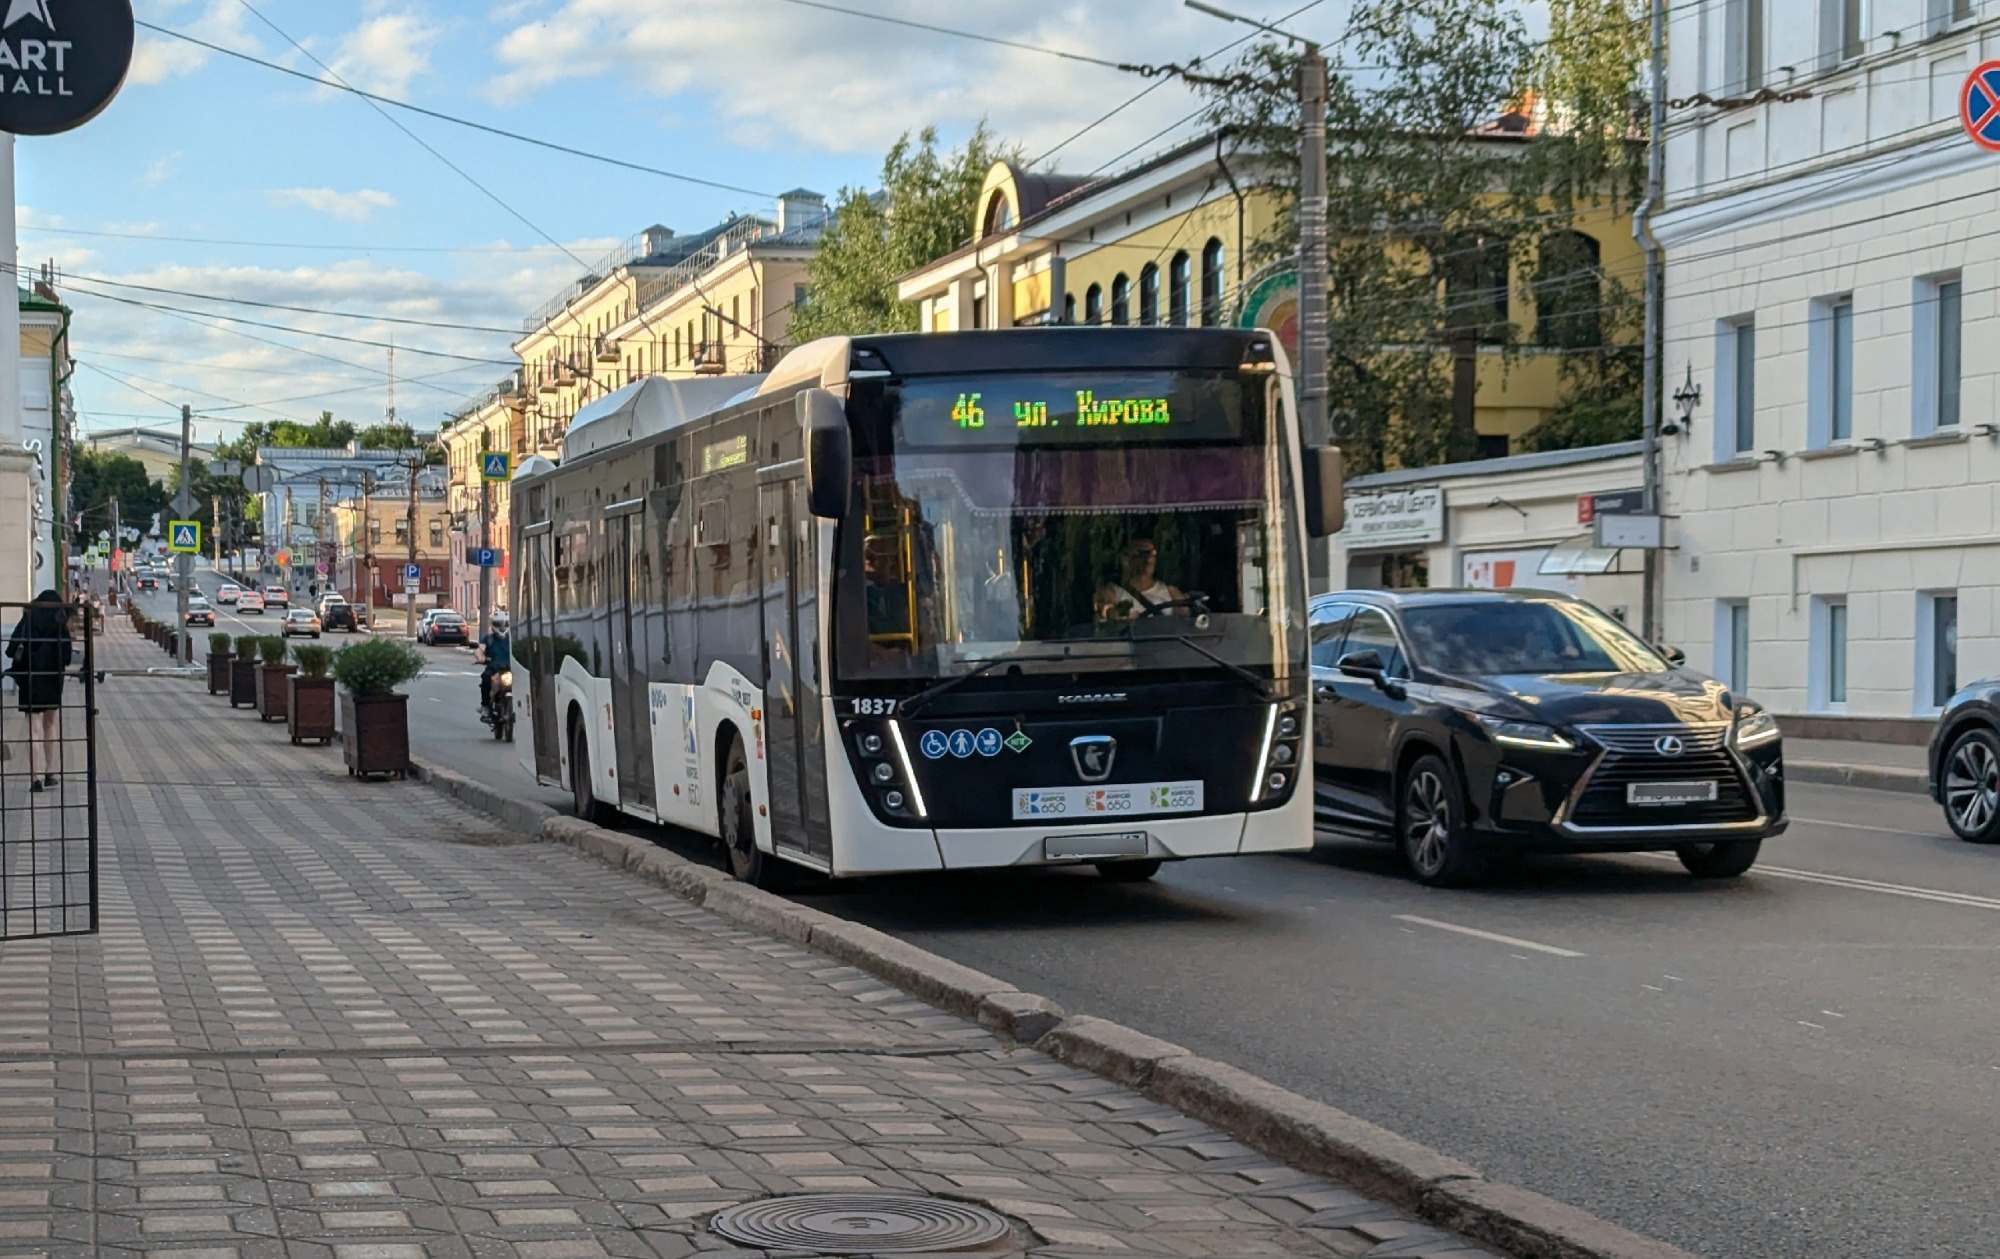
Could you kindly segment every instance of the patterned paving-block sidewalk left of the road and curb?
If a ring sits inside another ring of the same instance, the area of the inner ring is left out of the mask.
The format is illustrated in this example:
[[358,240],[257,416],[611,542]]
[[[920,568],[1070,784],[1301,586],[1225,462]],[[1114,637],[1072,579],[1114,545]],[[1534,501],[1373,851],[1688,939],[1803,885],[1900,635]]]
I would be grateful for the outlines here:
[[0,1255],[748,1255],[706,1217],[802,1191],[984,1203],[982,1255],[1484,1255],[196,679],[100,707],[104,931],[0,945]]

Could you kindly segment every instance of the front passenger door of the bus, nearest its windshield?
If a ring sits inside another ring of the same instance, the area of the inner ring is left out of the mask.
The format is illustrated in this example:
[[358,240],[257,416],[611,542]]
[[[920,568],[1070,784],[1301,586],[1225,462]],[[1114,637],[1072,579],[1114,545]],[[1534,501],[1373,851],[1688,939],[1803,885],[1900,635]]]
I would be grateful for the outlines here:
[[[806,779],[818,769],[806,755],[806,689],[814,691],[816,669],[800,659],[818,637],[802,635],[800,622],[816,616],[816,608],[800,610],[800,598],[810,590],[800,578],[798,510],[804,482],[772,482],[758,490],[758,524],[764,548],[764,755],[770,769],[770,833],[778,847],[828,857],[806,825]],[[808,570],[808,574],[814,570]],[[818,713],[814,711],[812,717]],[[816,727],[818,721],[814,719]],[[824,833],[824,825],[820,827]],[[826,845],[830,847],[830,845]]]

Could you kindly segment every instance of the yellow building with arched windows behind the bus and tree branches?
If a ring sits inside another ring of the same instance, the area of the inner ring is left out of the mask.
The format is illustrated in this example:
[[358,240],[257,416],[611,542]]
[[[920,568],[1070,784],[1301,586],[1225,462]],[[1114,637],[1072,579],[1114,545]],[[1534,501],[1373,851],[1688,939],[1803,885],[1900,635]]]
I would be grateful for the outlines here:
[[[904,276],[898,296],[918,304],[920,328],[930,332],[1056,322],[1268,324],[1296,352],[1290,262],[1248,274],[1242,266],[1276,218],[1250,162],[1218,136],[1104,178],[1030,174],[998,162],[968,224],[972,244]],[[1640,274],[1628,214],[1590,210],[1574,230],[1590,238],[1600,274]],[[1530,280],[1516,274],[1508,284],[1520,344],[1512,354],[1478,350],[1474,430],[1482,456],[1518,450],[1562,398],[1562,352],[1534,344]]]

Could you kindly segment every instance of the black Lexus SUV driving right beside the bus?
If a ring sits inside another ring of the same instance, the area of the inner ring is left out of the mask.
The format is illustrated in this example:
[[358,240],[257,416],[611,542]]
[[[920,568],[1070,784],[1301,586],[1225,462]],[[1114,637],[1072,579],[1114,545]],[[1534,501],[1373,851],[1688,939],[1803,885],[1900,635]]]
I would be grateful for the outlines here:
[[1320,825],[1422,883],[1530,851],[1674,851],[1710,879],[1786,827],[1778,721],[1594,606],[1548,592],[1312,602]]

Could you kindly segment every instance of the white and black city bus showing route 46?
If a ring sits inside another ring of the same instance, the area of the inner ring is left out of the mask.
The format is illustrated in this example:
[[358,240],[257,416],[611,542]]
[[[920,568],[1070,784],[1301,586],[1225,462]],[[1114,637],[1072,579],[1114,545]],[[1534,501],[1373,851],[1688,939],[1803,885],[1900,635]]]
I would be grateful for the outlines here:
[[644,380],[514,480],[522,759],[756,883],[1304,849],[1304,548],[1338,504],[1266,332]]

